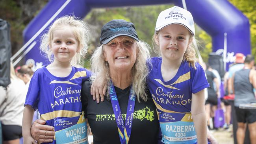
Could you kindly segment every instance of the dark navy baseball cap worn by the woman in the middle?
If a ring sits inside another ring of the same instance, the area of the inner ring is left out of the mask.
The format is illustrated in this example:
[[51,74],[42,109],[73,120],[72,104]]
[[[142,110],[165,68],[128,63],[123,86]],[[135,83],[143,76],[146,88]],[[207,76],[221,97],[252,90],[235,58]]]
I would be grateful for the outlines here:
[[100,44],[107,44],[112,39],[123,35],[139,41],[135,26],[132,22],[127,22],[122,19],[111,20],[101,28]]

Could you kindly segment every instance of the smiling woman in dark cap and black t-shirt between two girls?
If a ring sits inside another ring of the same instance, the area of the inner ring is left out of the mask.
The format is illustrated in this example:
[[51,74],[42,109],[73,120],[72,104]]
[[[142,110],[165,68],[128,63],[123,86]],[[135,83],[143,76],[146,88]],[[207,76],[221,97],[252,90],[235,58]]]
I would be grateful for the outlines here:
[[[133,107],[129,105],[127,108],[129,97],[135,100],[129,144],[156,144],[159,127],[156,107],[145,86],[148,74],[148,45],[138,40],[134,25],[125,20],[111,20],[105,24],[101,30],[100,43],[101,46],[96,49],[91,59],[92,70],[97,74],[97,79],[108,79],[108,88],[114,87],[121,114],[126,116],[124,121],[130,116],[126,109],[132,110]],[[120,143],[122,138],[119,137],[117,124],[121,122],[121,118],[117,118],[119,121],[116,123],[117,116],[113,112],[113,109],[119,109],[116,105],[112,108],[111,104],[111,99],[116,98],[115,95],[108,90],[107,100],[97,104],[91,98],[90,85],[89,81],[83,83],[81,101],[93,133],[94,144]],[[134,90],[137,98],[129,96],[130,89]],[[32,136],[39,142],[48,142],[53,138],[53,127],[41,124],[44,124],[44,121],[37,120],[32,125]],[[128,140],[128,137],[126,138]],[[211,142],[217,143],[214,139],[211,139]]]

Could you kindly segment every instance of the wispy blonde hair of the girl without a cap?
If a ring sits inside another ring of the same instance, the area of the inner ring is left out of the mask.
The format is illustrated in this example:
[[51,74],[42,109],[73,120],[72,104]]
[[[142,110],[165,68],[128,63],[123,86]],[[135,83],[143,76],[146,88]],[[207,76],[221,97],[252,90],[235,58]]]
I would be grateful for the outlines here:
[[49,27],[48,32],[41,38],[41,52],[43,52],[44,56],[47,57],[50,62],[54,61],[54,55],[52,50],[50,50],[53,33],[55,30],[65,26],[69,26],[70,29],[72,29],[73,34],[78,41],[78,48],[80,48],[80,51],[74,55],[70,63],[72,65],[80,64],[81,57],[85,57],[85,54],[87,53],[89,30],[87,24],[85,24],[83,20],[74,16],[63,16],[54,21],[54,23]]

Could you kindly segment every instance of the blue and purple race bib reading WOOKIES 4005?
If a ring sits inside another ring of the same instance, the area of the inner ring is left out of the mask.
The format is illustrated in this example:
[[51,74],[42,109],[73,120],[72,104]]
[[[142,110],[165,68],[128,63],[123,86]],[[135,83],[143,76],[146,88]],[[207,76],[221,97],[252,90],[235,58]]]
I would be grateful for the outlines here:
[[84,114],[55,120],[54,129],[57,144],[88,144]]

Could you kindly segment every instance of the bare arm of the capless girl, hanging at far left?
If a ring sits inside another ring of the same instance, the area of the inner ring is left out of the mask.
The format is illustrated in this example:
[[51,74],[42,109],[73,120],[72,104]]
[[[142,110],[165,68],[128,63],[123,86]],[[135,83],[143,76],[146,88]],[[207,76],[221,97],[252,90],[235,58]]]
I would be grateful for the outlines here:
[[24,144],[37,144],[30,134],[30,127],[34,113],[35,111],[31,105],[25,105],[22,119],[22,137]]

